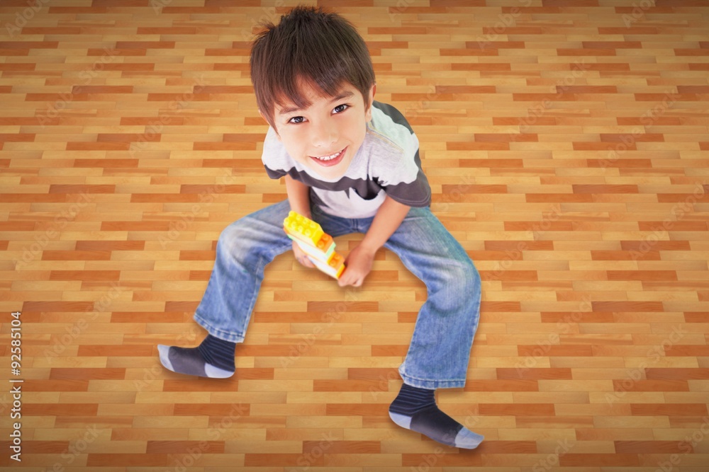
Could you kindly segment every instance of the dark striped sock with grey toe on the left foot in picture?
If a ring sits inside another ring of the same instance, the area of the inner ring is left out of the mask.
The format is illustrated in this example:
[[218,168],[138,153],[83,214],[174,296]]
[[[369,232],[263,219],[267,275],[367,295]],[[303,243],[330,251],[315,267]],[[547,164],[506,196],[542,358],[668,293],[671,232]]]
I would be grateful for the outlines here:
[[226,379],[234,374],[236,343],[207,335],[197,347],[158,345],[160,362],[179,374]]

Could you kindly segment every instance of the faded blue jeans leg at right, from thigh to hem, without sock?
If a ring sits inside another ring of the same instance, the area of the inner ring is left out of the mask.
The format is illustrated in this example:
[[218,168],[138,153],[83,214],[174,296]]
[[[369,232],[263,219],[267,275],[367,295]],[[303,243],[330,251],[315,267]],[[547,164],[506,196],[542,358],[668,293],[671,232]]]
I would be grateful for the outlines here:
[[428,288],[402,379],[420,388],[465,386],[480,316],[480,276],[469,255],[428,208],[412,208],[384,244]]

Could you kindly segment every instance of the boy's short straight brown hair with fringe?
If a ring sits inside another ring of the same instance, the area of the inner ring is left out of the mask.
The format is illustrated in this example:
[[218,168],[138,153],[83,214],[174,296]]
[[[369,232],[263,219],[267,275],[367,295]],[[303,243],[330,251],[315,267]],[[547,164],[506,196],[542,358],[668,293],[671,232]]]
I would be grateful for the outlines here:
[[279,25],[262,24],[251,48],[251,81],[256,103],[274,129],[274,107],[286,100],[307,108],[298,79],[335,96],[347,81],[364,97],[374,85],[374,68],[367,45],[352,23],[322,8],[296,6]]

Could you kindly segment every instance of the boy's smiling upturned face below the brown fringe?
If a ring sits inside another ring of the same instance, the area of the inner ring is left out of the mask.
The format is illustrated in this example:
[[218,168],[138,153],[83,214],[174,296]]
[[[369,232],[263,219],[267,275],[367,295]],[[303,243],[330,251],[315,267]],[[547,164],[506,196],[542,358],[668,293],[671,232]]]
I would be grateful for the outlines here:
[[323,97],[320,91],[301,81],[301,91],[311,105],[296,109],[286,103],[276,105],[274,122],[279,140],[288,154],[326,179],[345,175],[347,168],[364,142],[367,122],[372,120],[372,99],[376,85],[369,90],[370,104],[364,108],[364,97],[347,82],[334,97]]

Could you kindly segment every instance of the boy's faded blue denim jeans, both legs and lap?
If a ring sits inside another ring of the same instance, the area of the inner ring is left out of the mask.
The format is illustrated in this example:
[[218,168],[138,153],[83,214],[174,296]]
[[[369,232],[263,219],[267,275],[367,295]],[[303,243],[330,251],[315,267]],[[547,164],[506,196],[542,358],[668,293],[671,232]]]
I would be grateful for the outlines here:
[[[264,267],[291,250],[283,231],[289,210],[284,200],[235,221],[220,235],[214,269],[194,314],[195,321],[216,338],[244,340]],[[313,207],[313,219],[325,233],[337,237],[366,233],[374,218],[333,217]],[[480,317],[480,277],[473,262],[428,207],[411,208],[384,247],[428,288],[398,369],[401,378],[419,388],[464,386]]]

